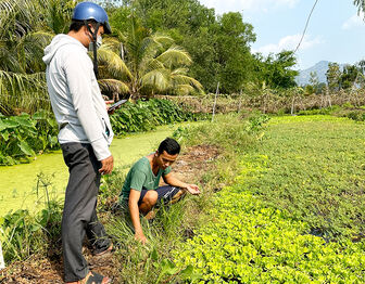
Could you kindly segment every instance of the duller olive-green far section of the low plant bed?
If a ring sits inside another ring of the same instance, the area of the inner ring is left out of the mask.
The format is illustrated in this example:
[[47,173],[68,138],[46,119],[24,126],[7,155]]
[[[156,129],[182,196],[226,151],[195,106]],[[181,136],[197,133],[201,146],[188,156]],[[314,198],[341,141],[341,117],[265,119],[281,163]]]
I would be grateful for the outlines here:
[[[267,205],[307,222],[326,240],[364,232],[364,125],[329,116],[272,119],[246,188]],[[244,169],[243,169],[244,170]]]

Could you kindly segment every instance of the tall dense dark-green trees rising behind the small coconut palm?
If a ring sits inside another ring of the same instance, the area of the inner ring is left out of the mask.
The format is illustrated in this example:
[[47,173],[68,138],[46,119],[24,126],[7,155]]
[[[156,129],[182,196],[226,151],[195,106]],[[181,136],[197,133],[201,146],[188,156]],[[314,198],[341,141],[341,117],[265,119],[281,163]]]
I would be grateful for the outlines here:
[[214,91],[239,91],[252,74],[250,43],[255,40],[253,27],[239,13],[216,17],[213,9],[198,0],[125,1],[143,26],[167,33],[191,55],[189,75]]

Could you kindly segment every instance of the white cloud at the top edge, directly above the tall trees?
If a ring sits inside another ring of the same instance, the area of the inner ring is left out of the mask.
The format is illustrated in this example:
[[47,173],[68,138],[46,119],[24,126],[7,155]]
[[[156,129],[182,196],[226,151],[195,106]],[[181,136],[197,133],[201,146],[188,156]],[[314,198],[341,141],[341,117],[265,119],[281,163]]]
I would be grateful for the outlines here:
[[261,11],[268,12],[279,7],[293,8],[300,0],[200,0],[207,8],[215,8],[218,14],[234,11]]

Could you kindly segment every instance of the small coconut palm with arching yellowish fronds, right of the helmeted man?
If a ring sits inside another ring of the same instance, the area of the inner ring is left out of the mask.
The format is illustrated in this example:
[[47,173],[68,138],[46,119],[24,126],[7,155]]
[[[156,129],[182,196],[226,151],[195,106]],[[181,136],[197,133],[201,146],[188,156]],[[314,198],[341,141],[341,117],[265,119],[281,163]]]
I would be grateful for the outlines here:
[[104,40],[98,61],[105,90],[129,93],[131,99],[154,93],[187,94],[202,92],[201,83],[187,75],[190,55],[174,40],[140,25],[131,15],[127,34],[116,31]]

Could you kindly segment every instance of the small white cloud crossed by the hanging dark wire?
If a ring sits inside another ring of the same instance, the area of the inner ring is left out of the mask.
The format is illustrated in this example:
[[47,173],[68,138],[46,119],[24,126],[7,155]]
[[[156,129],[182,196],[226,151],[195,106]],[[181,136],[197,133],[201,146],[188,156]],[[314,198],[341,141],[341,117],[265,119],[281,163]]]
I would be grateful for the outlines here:
[[[268,53],[278,53],[282,50],[294,50],[301,39],[302,35],[293,35],[293,36],[287,36],[279,40],[278,43],[270,43],[264,47],[261,47],[259,49],[253,49],[253,52],[260,52],[263,55],[267,55]],[[310,36],[304,36],[302,43],[299,48],[299,50],[305,50],[311,49],[314,46],[323,43],[323,40],[319,37],[316,37],[314,39],[311,39]]]

